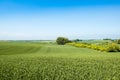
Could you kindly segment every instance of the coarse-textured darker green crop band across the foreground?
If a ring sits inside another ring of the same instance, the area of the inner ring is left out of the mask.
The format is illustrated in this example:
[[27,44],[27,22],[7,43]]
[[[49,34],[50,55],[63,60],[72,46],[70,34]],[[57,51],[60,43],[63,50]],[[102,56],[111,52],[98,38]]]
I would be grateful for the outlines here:
[[119,80],[119,62],[118,58],[1,58],[0,80]]

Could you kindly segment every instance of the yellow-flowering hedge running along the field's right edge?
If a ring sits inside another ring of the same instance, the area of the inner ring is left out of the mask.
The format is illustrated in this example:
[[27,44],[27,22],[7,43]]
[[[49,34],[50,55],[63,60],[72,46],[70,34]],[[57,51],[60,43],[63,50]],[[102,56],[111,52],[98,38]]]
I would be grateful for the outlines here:
[[104,45],[88,44],[88,43],[67,43],[78,48],[90,48],[98,51],[120,52],[120,47],[116,43],[107,43]]

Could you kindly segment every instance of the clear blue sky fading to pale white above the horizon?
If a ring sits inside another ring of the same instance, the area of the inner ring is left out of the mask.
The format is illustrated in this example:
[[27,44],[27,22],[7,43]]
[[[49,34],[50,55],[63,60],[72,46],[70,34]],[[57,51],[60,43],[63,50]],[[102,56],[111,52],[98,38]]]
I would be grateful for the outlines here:
[[119,0],[0,0],[0,40],[120,38]]

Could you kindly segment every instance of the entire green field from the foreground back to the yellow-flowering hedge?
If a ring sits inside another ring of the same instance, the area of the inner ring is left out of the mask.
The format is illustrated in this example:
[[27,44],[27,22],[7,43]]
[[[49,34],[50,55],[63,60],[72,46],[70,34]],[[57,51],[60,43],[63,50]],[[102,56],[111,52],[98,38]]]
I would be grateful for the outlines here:
[[0,42],[0,80],[120,80],[120,52]]

